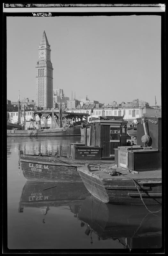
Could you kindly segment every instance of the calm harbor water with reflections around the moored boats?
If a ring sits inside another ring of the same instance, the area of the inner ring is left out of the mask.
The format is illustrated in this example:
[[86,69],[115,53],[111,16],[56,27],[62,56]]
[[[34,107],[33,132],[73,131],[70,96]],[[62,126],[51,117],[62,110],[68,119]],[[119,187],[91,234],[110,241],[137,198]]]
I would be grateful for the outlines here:
[[24,178],[18,150],[66,155],[67,145],[76,142],[83,143],[83,138],[7,139],[8,248],[161,248],[161,212],[101,203],[91,198],[83,183],[48,184]]

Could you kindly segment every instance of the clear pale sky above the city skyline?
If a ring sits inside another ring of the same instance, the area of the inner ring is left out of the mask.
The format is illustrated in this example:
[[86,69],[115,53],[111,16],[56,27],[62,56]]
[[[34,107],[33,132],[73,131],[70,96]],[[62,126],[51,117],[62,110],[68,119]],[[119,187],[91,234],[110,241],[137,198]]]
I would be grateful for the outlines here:
[[7,99],[36,100],[38,45],[51,45],[53,89],[101,103],[161,105],[161,17],[7,17]]

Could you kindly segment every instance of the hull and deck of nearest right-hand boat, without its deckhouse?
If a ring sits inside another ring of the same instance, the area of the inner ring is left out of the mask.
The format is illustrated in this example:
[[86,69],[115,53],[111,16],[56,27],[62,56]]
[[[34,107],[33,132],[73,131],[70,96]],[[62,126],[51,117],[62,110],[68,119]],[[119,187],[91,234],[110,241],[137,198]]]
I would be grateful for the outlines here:
[[161,204],[162,202],[161,170],[144,171],[133,175],[127,170],[116,168],[117,172],[122,172],[119,176],[111,176],[108,169],[89,170],[88,166],[78,167],[77,170],[87,190],[104,203]]

